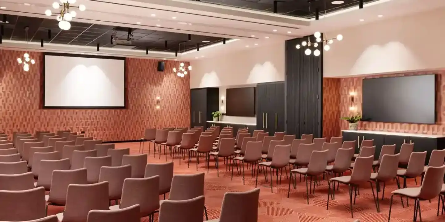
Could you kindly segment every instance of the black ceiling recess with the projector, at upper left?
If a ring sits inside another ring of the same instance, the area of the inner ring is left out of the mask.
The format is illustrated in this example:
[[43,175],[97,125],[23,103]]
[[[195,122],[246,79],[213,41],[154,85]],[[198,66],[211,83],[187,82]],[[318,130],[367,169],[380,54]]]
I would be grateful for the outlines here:
[[[25,40],[24,28],[28,26],[28,41],[40,42],[40,39],[43,39],[45,43],[93,47],[99,44],[100,47],[111,48],[113,45],[110,40],[113,32],[119,39],[127,39],[128,34],[128,28],[125,27],[71,22],[71,28],[65,31],[59,28],[58,21],[53,18],[42,19],[7,15],[7,24],[1,23],[2,18],[3,15],[0,16],[0,24],[4,26],[4,40]],[[48,39],[48,30],[51,30],[51,39]],[[188,51],[196,48],[196,44],[203,47],[223,41],[223,38],[199,35],[191,35],[191,40],[188,41],[188,34],[148,29],[133,30],[132,46],[134,46],[133,49],[139,50],[145,50],[148,47],[150,51],[175,52],[178,50],[179,43],[181,43],[179,52],[183,52],[184,46],[185,50]],[[167,41],[167,48],[165,47],[165,41]],[[202,41],[209,41],[209,43],[203,43]]]

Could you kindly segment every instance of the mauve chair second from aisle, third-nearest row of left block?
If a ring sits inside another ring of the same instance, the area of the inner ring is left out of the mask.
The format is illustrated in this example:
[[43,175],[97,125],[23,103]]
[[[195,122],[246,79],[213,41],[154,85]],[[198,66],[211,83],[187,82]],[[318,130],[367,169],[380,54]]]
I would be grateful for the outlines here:
[[99,174],[99,182],[108,181],[109,200],[117,200],[122,197],[122,187],[126,178],[131,178],[131,166],[102,166]]

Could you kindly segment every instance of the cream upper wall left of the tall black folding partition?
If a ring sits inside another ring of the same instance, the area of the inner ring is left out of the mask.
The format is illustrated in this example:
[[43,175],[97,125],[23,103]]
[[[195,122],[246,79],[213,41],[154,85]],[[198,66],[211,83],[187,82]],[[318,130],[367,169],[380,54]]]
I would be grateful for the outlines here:
[[284,41],[190,64],[190,88],[284,81]]

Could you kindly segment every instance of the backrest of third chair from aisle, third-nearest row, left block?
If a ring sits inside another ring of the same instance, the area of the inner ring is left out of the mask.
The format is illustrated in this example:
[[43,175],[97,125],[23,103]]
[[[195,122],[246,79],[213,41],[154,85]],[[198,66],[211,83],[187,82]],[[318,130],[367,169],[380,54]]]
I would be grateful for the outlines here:
[[[70,184],[88,184],[86,169],[53,170],[50,188],[51,192],[49,192],[48,202],[65,206],[66,192]],[[81,194],[82,197],[84,195],[85,194]]]

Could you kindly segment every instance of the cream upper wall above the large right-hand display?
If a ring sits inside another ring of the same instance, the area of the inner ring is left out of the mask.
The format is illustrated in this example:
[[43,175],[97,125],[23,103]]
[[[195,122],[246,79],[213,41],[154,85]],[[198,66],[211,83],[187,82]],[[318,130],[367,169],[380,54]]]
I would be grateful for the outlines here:
[[344,39],[324,53],[324,77],[443,69],[444,21],[439,9],[336,31]]

